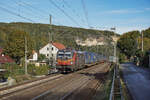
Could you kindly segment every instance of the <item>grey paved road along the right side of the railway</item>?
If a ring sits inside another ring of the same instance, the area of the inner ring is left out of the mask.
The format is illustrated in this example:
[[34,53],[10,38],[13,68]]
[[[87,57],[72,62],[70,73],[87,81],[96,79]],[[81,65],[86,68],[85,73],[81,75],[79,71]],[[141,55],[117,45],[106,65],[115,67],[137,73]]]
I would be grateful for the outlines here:
[[124,79],[134,100],[150,100],[150,70],[132,63],[121,64]]

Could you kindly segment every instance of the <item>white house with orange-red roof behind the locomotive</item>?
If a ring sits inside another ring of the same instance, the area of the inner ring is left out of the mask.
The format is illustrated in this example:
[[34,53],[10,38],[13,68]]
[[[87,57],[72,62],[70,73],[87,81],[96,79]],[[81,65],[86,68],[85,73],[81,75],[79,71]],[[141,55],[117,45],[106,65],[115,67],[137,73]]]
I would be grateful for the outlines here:
[[48,43],[39,50],[39,54],[44,54],[46,58],[52,58],[53,61],[56,61],[57,52],[58,50],[62,49],[65,49],[65,46],[61,43],[57,42]]

